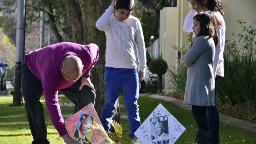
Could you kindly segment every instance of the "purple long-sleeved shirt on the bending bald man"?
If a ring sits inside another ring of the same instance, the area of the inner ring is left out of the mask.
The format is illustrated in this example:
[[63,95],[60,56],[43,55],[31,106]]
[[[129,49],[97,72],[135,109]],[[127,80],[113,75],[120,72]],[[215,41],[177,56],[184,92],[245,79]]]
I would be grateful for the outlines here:
[[75,83],[66,81],[61,75],[61,63],[67,55],[75,55],[81,59],[84,65],[82,76],[87,77],[99,58],[99,47],[94,43],[56,43],[29,52],[24,58],[30,71],[42,82],[47,111],[60,136],[68,133],[58,104],[58,89],[68,88]]

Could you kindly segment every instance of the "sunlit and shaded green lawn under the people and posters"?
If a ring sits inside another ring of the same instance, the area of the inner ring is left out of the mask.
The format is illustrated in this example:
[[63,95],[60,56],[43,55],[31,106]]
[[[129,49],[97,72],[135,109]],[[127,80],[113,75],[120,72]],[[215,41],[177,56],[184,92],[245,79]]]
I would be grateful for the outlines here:
[[[124,104],[122,97],[120,103]],[[44,104],[43,97],[41,102]],[[67,98],[59,98],[59,102],[70,102]],[[195,138],[197,126],[192,117],[191,112],[173,106],[168,102],[149,98],[143,96],[139,98],[140,117],[143,122],[148,115],[154,110],[157,105],[161,103],[172,115],[186,127],[186,131],[180,136],[176,144],[192,144]],[[29,125],[26,119],[24,106],[22,107],[9,107],[12,104],[12,97],[0,97],[0,144],[31,144],[32,135],[29,130]],[[45,108],[45,104],[44,104]],[[70,114],[73,112],[71,107],[61,107],[63,114]],[[121,109],[125,112],[125,109]],[[52,123],[49,121],[49,115],[45,109],[45,118],[47,123],[48,139],[51,144],[64,144],[62,138],[59,138],[57,131],[54,129]],[[128,138],[129,124],[127,119],[121,120],[123,127],[124,140],[122,144],[129,144]],[[241,128],[232,127],[229,125],[221,124],[220,130],[221,141],[220,144],[256,144],[256,132],[250,132]]]

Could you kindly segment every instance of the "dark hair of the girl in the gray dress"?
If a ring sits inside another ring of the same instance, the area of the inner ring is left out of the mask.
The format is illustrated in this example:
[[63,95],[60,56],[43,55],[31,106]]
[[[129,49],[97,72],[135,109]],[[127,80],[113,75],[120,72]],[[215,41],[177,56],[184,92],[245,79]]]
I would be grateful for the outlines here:
[[198,20],[200,23],[200,32],[198,36],[206,35],[212,37],[215,46],[219,45],[217,22],[215,20],[214,14],[212,14],[210,11],[199,12],[193,19]]

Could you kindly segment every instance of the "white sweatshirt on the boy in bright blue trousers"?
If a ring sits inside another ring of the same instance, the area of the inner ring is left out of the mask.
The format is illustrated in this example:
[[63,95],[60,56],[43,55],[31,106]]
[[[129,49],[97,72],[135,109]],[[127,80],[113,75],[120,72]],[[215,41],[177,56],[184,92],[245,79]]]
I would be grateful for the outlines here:
[[109,6],[96,22],[107,38],[105,66],[136,69],[139,64],[139,71],[145,72],[146,51],[140,20],[130,15],[119,21],[113,13],[114,7]]

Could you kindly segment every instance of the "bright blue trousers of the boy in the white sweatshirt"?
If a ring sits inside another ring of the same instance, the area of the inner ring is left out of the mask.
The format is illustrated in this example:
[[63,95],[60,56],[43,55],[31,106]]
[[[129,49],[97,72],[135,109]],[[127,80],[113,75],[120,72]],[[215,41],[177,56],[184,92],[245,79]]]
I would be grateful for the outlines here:
[[113,118],[119,93],[123,89],[123,99],[125,101],[125,109],[130,123],[131,138],[134,132],[140,127],[139,105],[139,78],[137,69],[119,69],[105,67],[105,104],[101,112],[101,122],[106,131],[110,129],[110,124],[106,118]]

